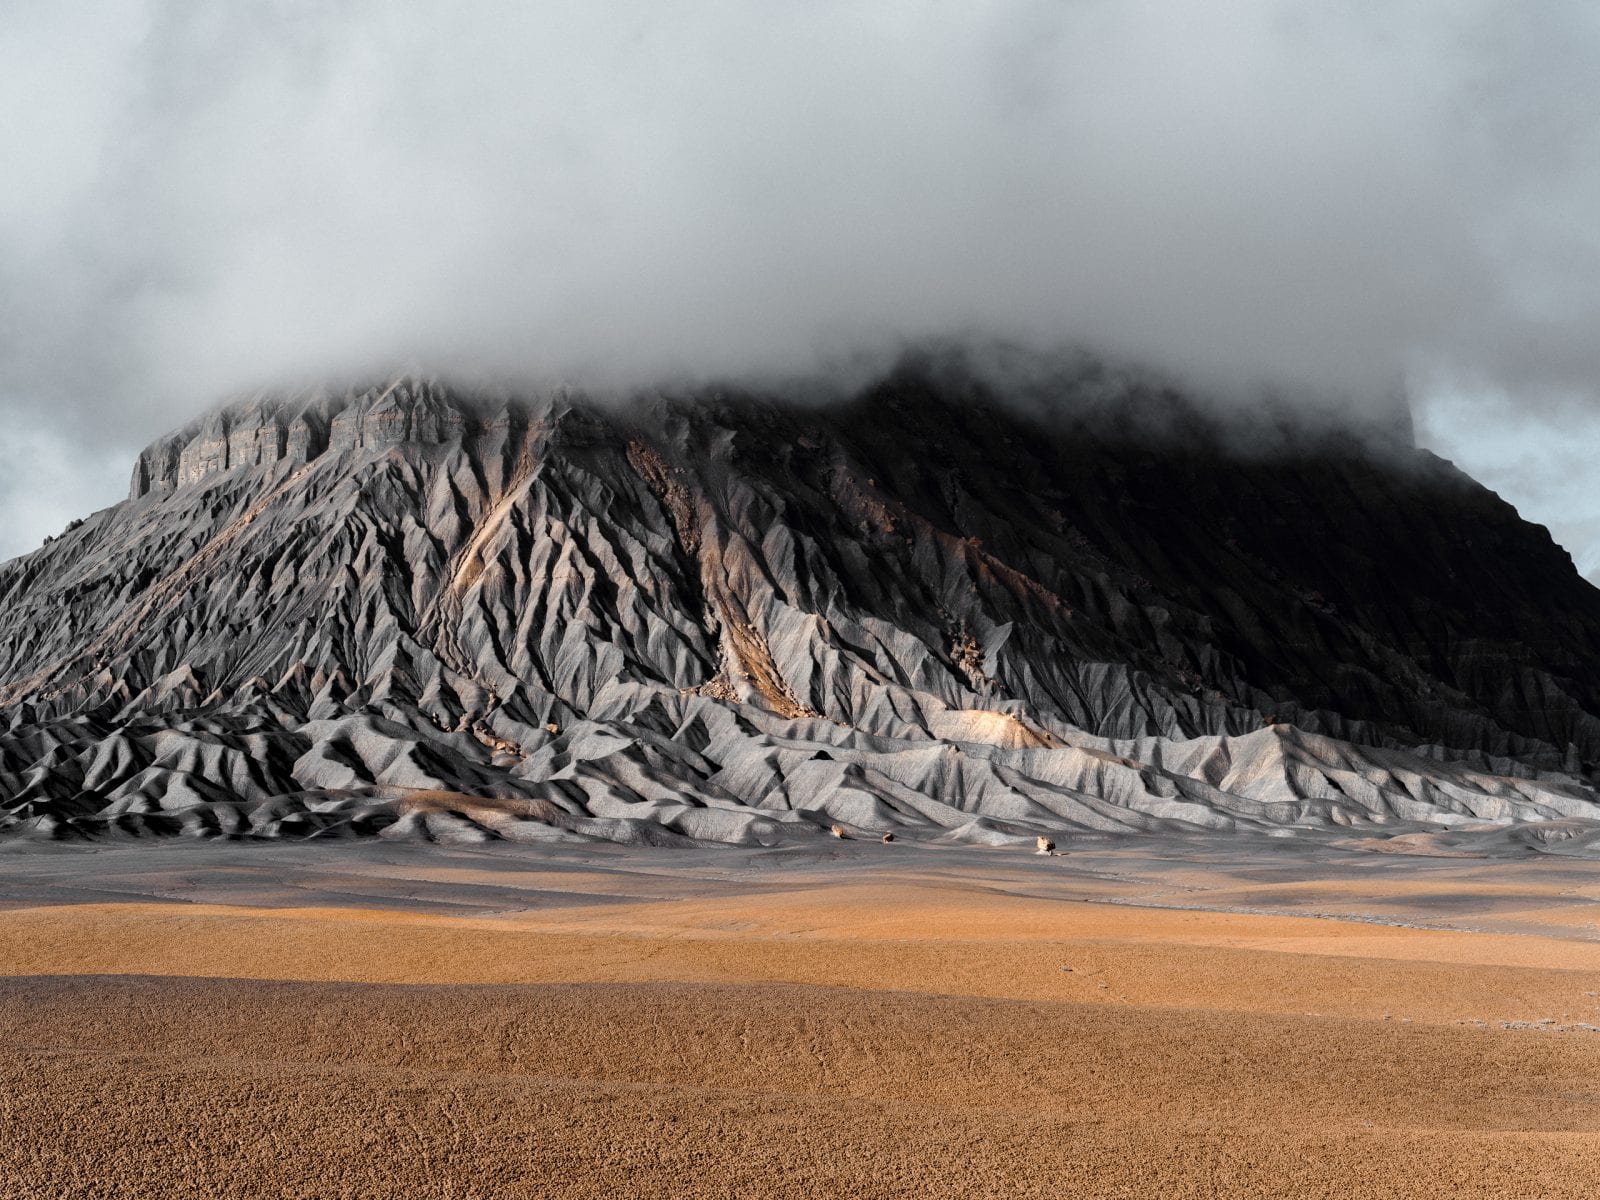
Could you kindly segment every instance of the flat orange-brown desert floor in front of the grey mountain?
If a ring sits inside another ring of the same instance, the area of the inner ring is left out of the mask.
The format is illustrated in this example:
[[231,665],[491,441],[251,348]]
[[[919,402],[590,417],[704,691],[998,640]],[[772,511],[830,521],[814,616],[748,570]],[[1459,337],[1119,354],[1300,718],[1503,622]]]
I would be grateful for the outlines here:
[[5,1197],[1592,1197],[1600,862],[0,846]]

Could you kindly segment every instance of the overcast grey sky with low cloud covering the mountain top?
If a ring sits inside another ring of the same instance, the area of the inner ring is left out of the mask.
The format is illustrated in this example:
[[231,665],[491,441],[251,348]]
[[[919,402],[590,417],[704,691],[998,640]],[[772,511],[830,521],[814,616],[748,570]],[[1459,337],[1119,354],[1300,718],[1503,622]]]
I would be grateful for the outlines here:
[[1589,570],[1597,114],[1581,0],[6,0],[0,555],[242,387],[978,333],[1406,394]]

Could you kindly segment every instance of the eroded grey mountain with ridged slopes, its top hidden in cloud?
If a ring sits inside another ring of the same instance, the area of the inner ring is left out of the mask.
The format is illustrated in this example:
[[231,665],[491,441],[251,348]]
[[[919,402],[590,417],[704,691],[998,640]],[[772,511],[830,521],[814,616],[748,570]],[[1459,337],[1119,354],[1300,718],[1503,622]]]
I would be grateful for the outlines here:
[[1096,371],[261,395],[0,566],[0,630],[10,835],[1600,829],[1600,590],[1542,528]]

